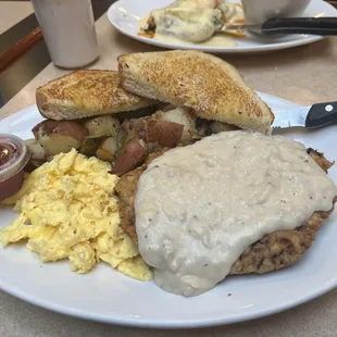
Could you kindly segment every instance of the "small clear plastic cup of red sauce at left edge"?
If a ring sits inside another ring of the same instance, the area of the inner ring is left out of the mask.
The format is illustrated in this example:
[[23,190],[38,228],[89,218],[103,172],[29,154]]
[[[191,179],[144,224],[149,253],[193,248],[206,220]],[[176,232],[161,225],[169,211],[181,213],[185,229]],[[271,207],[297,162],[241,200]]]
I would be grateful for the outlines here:
[[20,190],[29,159],[30,153],[22,139],[0,134],[0,201]]

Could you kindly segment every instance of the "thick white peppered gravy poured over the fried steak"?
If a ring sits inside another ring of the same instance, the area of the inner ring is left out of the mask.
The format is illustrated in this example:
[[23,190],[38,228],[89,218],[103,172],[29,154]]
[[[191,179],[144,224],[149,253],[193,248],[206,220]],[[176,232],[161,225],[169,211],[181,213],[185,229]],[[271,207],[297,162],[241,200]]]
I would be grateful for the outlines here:
[[139,251],[159,287],[199,295],[224,279],[251,244],[330,210],[335,196],[302,143],[221,133],[164,153],[140,176]]

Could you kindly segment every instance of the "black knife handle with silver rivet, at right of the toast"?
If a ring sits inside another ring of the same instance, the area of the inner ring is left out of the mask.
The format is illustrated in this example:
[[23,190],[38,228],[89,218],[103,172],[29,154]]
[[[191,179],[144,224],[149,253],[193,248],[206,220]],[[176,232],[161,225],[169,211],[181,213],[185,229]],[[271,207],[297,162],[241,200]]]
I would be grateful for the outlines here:
[[337,102],[313,104],[305,120],[305,127],[321,127],[337,122]]

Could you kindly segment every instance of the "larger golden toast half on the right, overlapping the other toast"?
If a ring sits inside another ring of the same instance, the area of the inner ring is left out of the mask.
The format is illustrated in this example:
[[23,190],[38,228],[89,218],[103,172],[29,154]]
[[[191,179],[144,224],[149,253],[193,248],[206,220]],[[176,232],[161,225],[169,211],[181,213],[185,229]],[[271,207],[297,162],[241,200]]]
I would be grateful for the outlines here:
[[192,108],[199,117],[270,133],[274,115],[230,64],[197,51],[118,57],[122,86],[134,93]]

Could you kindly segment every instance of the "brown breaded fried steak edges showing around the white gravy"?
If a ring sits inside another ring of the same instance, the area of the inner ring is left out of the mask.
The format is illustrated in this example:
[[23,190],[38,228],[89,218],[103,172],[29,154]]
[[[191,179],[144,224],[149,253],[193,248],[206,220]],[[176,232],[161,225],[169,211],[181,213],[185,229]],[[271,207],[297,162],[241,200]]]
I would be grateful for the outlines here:
[[[116,185],[115,191],[120,198],[122,227],[136,244],[134,199],[138,179],[147,166],[167,150],[168,148],[164,148],[151,153],[142,166],[123,175]],[[307,152],[326,173],[334,165],[333,162],[324,158],[323,153],[313,149],[308,149]],[[334,203],[336,201],[337,198]],[[234,263],[229,275],[264,274],[299,261],[314,241],[323,220],[327,219],[332,212],[333,209],[328,212],[314,212],[305,224],[294,230],[278,230],[263,236],[258,242],[246,249]]]

